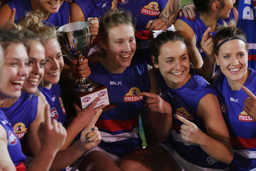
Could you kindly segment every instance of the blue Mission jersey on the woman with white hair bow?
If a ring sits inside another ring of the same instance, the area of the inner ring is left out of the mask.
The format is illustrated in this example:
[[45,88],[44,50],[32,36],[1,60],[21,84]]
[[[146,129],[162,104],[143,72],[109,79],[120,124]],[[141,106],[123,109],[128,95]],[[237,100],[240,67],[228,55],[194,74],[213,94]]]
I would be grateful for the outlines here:
[[173,128],[166,141],[183,159],[192,164],[205,168],[225,169],[227,164],[213,159],[199,145],[189,143],[181,137],[180,129],[183,123],[174,117],[175,114],[184,117],[195,123],[202,132],[207,134],[203,118],[197,116],[197,106],[199,101],[207,94],[214,94],[219,97],[217,92],[197,73],[194,73],[184,86],[175,90],[167,86],[159,72],[156,78],[159,95],[172,106]]

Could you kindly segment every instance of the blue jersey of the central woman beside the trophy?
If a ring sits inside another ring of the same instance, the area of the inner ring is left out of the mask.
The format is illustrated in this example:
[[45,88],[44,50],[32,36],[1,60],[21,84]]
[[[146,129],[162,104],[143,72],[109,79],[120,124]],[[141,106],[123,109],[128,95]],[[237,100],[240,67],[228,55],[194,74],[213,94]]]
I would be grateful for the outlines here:
[[102,112],[95,124],[102,136],[98,146],[123,157],[142,146],[139,134],[139,114],[145,102],[142,92],[151,88],[147,64],[131,64],[120,74],[109,73],[101,63],[90,69],[89,78],[107,86],[110,102],[116,105]]

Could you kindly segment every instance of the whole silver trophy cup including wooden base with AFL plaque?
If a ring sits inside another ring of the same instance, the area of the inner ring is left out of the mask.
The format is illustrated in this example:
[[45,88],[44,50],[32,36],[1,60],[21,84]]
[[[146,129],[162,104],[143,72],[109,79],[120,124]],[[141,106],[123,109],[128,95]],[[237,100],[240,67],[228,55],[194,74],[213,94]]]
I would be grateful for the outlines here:
[[[88,18],[88,22],[79,21],[65,24],[57,29],[61,51],[70,59],[76,59],[79,62],[87,57],[93,36],[91,35],[90,22],[93,18]],[[102,84],[93,82],[88,77],[80,78],[72,90],[67,90],[73,102],[78,103],[82,109],[90,105],[90,103],[101,96],[100,101],[95,105],[95,108],[101,104],[105,104],[103,111],[112,109],[114,104],[110,103],[108,95],[108,87]]]

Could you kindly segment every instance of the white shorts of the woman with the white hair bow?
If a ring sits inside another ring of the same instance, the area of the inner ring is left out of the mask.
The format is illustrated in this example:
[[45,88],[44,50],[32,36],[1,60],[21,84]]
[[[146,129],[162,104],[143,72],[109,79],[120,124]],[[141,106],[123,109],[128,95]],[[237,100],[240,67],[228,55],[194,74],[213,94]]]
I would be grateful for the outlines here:
[[189,163],[187,160],[183,159],[178,153],[172,148],[172,146],[169,143],[165,142],[160,142],[158,145],[162,146],[169,152],[169,154],[173,157],[173,159],[178,163],[179,167],[181,168],[182,171],[228,171],[229,168],[225,169],[210,169],[210,168],[205,168],[201,166],[197,166],[195,164]]

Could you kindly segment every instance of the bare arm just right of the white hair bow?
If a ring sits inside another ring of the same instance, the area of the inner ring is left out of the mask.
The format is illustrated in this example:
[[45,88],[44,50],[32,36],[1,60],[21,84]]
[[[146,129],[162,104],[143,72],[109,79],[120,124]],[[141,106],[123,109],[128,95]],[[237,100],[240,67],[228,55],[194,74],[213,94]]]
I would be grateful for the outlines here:
[[176,20],[174,27],[185,38],[190,59],[195,68],[201,68],[203,66],[203,58],[196,47],[196,37],[194,31],[187,23],[182,20]]

